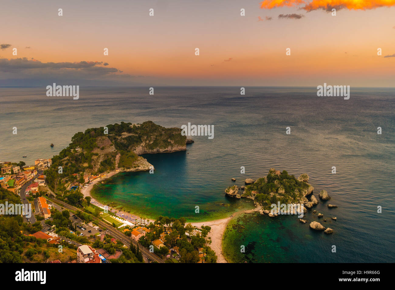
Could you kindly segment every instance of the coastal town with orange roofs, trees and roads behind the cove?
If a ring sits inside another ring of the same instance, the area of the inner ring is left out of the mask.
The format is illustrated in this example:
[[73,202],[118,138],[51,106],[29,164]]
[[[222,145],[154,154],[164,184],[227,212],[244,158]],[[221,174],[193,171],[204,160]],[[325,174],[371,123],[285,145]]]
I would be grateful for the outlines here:
[[[77,147],[70,152],[79,154],[83,150]],[[17,196],[23,205],[23,211],[17,213],[23,219],[21,235],[27,241],[40,240],[47,247],[63,249],[52,254],[48,250],[40,253],[26,249],[23,262],[216,262],[217,256],[209,247],[211,241],[205,239],[209,226],[198,228],[187,224],[184,218],[141,218],[81,193],[116,172],[71,174],[74,181],[65,191],[76,193],[79,198],[75,203],[71,197],[59,200],[46,182],[45,173],[51,165],[52,159],[41,158],[34,165],[0,161],[2,199],[12,199],[4,194]]]

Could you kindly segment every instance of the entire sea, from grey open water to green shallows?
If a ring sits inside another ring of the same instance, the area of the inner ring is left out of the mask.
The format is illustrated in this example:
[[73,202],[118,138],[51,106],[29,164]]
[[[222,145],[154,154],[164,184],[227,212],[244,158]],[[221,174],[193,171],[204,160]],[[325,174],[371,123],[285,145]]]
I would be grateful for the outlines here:
[[[47,97],[45,88],[0,88],[0,160],[34,164],[58,154],[76,132],[113,123],[213,125],[214,138],[193,136],[184,152],[144,155],[154,174],[117,174],[92,195],[147,218],[212,221],[253,207],[244,198],[226,197],[226,187],[263,177],[269,168],[296,177],[307,173],[317,198],[322,189],[331,196],[314,207],[324,217],[309,211],[303,224],[293,215],[237,215],[224,233],[226,258],[395,262],[395,88],[351,88],[348,100],[318,97],[311,87],[240,91],[156,87],[149,95],[145,87],[87,87],[73,100]],[[311,230],[311,221],[333,234]]]

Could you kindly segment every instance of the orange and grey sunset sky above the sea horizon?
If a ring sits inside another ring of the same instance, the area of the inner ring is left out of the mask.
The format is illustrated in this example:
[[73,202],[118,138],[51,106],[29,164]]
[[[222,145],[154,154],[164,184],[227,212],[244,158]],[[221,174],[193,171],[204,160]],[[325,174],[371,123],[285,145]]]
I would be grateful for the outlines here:
[[0,7],[0,86],[395,86],[395,0]]

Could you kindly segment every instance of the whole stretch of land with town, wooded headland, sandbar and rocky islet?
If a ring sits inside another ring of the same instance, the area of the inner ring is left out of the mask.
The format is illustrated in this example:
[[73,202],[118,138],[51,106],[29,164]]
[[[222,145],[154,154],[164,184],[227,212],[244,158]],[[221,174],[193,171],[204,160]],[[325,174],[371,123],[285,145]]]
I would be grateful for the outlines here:
[[[129,138],[131,135],[139,137]],[[0,161],[1,200],[8,204],[11,201],[21,203],[23,208],[14,215],[21,217],[16,226],[20,229],[18,235],[25,239],[44,240],[54,248],[62,247],[59,253],[45,255],[43,253],[48,250],[37,251],[24,246],[23,255],[16,261],[228,262],[222,239],[231,219],[240,214],[270,218],[294,214],[304,224],[307,223],[304,213],[319,203],[312,194],[314,187],[308,183],[307,174],[295,178],[286,170],[281,172],[275,168],[270,168],[266,176],[256,180],[246,178],[241,187],[237,185],[240,181],[231,178],[234,185],[225,190],[225,196],[251,202],[250,209],[235,210],[228,217],[214,221],[187,223],[184,217],[162,215],[149,219],[135,215],[111,200],[103,204],[90,194],[96,184],[103,187],[106,179],[118,173],[151,173],[154,167],[142,154],[186,151],[187,144],[191,143],[193,140],[182,136],[179,128],[165,128],[151,121],[142,124],[121,122],[78,132],[59,155],[36,159],[34,165],[26,165],[23,161]],[[325,190],[318,196],[320,200],[330,199]],[[284,205],[288,205],[288,209],[285,207],[284,210]],[[312,211],[312,219],[322,218],[323,223],[333,225],[332,222],[337,220],[336,217],[323,218],[319,212],[315,216],[316,213]],[[331,228],[314,220],[310,222],[310,228],[333,233]]]

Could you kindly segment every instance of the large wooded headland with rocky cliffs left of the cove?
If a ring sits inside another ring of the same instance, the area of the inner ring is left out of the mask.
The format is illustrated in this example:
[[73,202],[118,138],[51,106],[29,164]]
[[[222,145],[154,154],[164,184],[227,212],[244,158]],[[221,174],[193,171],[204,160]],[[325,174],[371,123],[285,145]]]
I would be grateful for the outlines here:
[[154,169],[139,155],[185,150],[186,136],[181,135],[180,128],[165,128],[152,121],[90,128],[76,133],[69,146],[52,158],[46,180],[52,191],[67,193],[89,177]]

